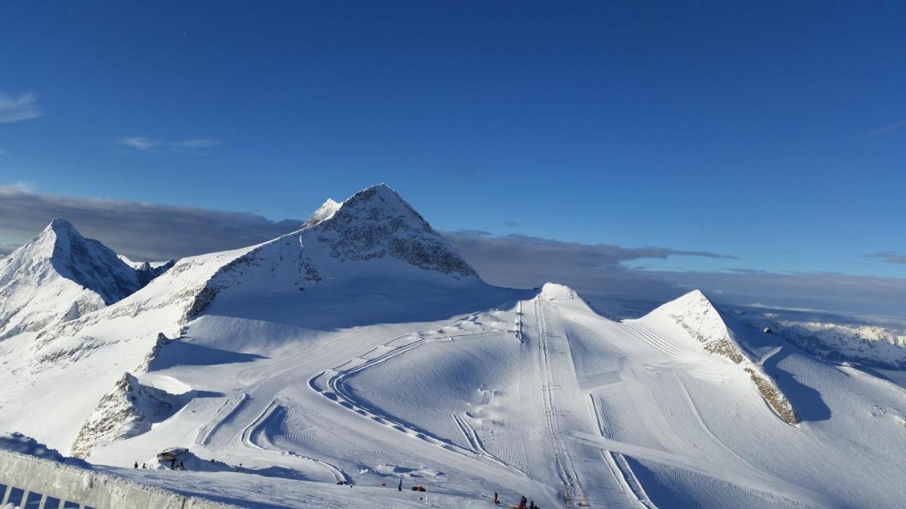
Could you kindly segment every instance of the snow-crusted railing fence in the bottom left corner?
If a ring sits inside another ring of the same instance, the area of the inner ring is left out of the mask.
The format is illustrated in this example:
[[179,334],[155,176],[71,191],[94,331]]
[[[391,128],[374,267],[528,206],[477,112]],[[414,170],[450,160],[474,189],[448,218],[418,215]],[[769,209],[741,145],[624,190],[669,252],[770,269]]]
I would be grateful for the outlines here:
[[[78,504],[80,508],[96,509],[239,509],[236,505],[179,495],[114,475],[4,450],[0,450],[0,485],[5,485],[0,491],[0,507],[5,507],[18,488],[24,492],[21,506],[40,501],[40,509],[62,508],[67,502],[67,506]],[[48,498],[55,499],[53,506]]]

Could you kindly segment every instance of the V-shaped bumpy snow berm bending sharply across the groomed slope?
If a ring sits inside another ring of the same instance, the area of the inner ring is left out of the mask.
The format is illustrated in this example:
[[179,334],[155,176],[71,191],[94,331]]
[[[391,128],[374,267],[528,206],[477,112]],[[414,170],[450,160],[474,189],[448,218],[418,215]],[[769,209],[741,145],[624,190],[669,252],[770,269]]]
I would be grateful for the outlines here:
[[[491,334],[491,333],[499,334],[499,333],[501,333],[501,331],[483,331],[483,332],[476,332],[476,333],[471,333],[471,334],[459,334],[455,337],[461,338],[461,337],[481,336],[481,335],[487,335],[487,334]],[[393,340],[390,340],[378,347],[371,349],[371,351],[368,351],[368,353],[378,351],[381,348],[389,348],[390,343],[392,343],[394,341],[399,341],[400,339],[405,338],[407,336],[411,336],[411,334],[406,334],[404,336],[394,338]],[[381,413],[380,408],[373,408],[373,407],[371,407],[371,405],[364,404],[361,401],[359,401],[358,399],[355,399],[355,397],[352,396],[352,394],[350,394],[345,389],[346,384],[345,384],[344,379],[346,377],[349,377],[362,370],[367,370],[371,366],[374,366],[378,363],[390,360],[398,355],[406,353],[407,351],[414,350],[428,341],[439,341],[439,340],[443,340],[443,339],[448,339],[450,337],[451,336],[446,336],[446,337],[433,338],[433,339],[419,337],[419,339],[417,339],[415,341],[410,341],[410,342],[402,344],[400,346],[390,348],[389,351],[385,351],[384,353],[381,353],[381,355],[379,355],[373,359],[364,360],[364,359],[361,359],[361,357],[359,357],[357,359],[362,360],[361,363],[356,366],[352,366],[347,370],[341,370],[342,366],[349,364],[350,362],[352,362],[355,359],[347,361],[347,362],[343,362],[337,368],[333,368],[331,370],[324,370],[324,371],[318,373],[317,375],[313,376],[311,379],[308,380],[308,387],[309,387],[309,389],[312,389],[314,392],[317,392],[318,394],[322,395],[323,397],[325,397],[327,399],[331,399],[333,402],[341,405],[342,407],[348,408],[348,409],[352,410],[353,412],[356,412],[357,414],[361,415],[362,417],[370,418],[371,420],[378,422],[384,426],[392,427],[393,429],[400,431],[400,433],[403,433],[410,437],[418,438],[419,440],[428,442],[429,444],[433,444],[433,445],[441,447],[443,449],[447,449],[448,451],[456,453],[460,456],[466,456],[471,459],[484,459],[486,461],[490,461],[499,466],[507,466],[509,468],[512,468],[519,474],[525,475],[525,472],[523,472],[516,466],[509,465],[505,461],[503,461],[489,453],[483,454],[483,453],[479,453],[479,452],[476,452],[473,450],[469,450],[465,447],[460,447],[454,443],[451,443],[448,440],[445,440],[440,437],[435,437],[428,431],[420,429],[419,427],[415,427],[409,423],[401,422],[399,419],[396,419],[396,418],[391,418],[389,415]],[[365,353],[364,355],[368,355],[368,353]],[[326,378],[326,380],[324,382],[319,381],[323,378]],[[326,387],[323,387],[321,385],[322,383],[324,383],[326,385]],[[457,424],[459,425],[459,423],[457,423]],[[466,432],[464,431],[464,433],[466,433]],[[471,442],[468,438],[467,438],[467,441]]]

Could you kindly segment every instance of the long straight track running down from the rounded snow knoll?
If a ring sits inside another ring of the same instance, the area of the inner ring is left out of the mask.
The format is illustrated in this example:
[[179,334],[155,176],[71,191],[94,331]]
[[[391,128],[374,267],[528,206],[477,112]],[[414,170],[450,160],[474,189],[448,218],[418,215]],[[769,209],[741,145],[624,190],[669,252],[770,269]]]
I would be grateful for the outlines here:
[[578,490],[581,499],[585,500],[582,485],[579,483],[579,477],[573,467],[573,459],[570,457],[569,448],[566,447],[566,441],[560,433],[560,428],[556,424],[554,415],[557,412],[556,400],[554,399],[554,374],[551,370],[549,348],[547,345],[547,329],[545,328],[544,312],[539,297],[533,300],[535,306],[535,322],[538,327],[538,349],[541,351],[541,370],[544,373],[542,381],[543,400],[545,402],[545,420],[547,428],[551,432],[551,442],[554,444],[554,456],[556,459],[557,470],[560,478],[564,483],[566,490],[566,503],[576,504],[575,490]]

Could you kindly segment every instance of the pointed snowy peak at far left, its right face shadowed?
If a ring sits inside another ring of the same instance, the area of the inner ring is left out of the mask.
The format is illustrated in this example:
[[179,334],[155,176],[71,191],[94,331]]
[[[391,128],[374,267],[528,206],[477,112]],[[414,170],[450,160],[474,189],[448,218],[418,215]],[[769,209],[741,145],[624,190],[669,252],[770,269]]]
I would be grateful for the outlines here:
[[65,219],[54,219],[0,260],[0,339],[78,318],[143,283],[109,248],[83,237]]

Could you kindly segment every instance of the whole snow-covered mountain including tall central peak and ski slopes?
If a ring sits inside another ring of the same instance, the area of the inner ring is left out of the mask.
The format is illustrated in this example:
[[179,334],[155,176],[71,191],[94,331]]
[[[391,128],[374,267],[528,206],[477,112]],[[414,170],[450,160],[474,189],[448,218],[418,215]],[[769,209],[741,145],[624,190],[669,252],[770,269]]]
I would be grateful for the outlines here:
[[701,293],[615,322],[487,285],[385,186],[306,225],[0,342],[0,429],[249,507],[906,500],[906,391]]

